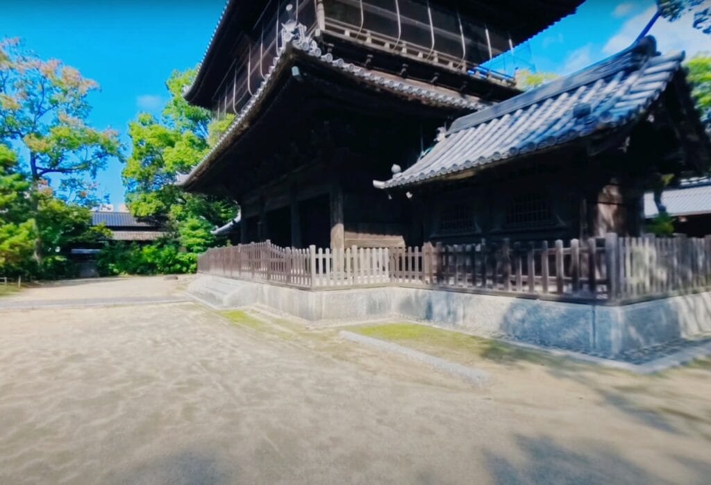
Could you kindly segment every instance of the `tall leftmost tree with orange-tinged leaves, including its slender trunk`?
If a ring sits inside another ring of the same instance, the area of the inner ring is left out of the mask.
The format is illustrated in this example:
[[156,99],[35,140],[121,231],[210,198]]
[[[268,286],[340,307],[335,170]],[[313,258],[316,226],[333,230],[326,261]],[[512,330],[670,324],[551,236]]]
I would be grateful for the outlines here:
[[[33,182],[28,195],[33,217],[28,220],[34,224],[38,266],[46,247],[60,247],[53,236],[57,221],[43,214],[76,215],[72,206],[77,202],[95,203],[90,180],[109,158],[120,156],[116,131],[100,131],[86,123],[87,97],[98,88],[73,67],[24,50],[16,38],[0,40],[0,141],[27,153]],[[55,189],[50,188],[53,175],[60,179]],[[70,230],[68,224],[61,227]]]

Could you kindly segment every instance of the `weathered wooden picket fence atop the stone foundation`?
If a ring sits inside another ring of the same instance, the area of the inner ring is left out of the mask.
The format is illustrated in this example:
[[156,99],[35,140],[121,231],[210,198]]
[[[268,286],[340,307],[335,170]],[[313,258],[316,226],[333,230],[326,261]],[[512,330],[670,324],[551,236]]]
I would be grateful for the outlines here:
[[480,241],[422,247],[210,249],[198,271],[299,288],[414,285],[574,300],[638,300],[711,286],[711,236]]

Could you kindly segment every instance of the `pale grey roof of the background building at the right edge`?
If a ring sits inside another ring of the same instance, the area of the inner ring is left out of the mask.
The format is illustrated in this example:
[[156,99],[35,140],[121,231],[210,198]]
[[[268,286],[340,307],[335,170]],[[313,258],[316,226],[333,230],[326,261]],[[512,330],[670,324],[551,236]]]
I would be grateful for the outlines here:
[[[671,216],[711,214],[711,178],[682,182],[680,187],[662,192],[662,204]],[[654,195],[644,195],[644,217],[658,214]]]

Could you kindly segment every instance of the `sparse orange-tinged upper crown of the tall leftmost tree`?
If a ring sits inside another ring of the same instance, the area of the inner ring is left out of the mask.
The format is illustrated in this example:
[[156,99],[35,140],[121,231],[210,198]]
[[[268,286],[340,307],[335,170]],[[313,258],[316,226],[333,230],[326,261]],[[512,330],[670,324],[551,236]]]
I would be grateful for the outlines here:
[[33,180],[85,181],[120,156],[118,133],[87,126],[87,97],[99,89],[59,60],[41,60],[16,38],[0,40],[0,140],[29,153]]

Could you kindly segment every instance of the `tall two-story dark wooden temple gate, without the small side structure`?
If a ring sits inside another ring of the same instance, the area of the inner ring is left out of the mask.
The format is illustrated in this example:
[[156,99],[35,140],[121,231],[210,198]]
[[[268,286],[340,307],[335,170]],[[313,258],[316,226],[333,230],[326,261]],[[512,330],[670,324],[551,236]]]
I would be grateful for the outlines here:
[[440,127],[519,94],[482,64],[581,3],[228,1],[185,97],[235,119],[178,183],[239,204],[223,228],[236,242],[417,244],[431,236],[419,196],[373,180],[415,163]]

